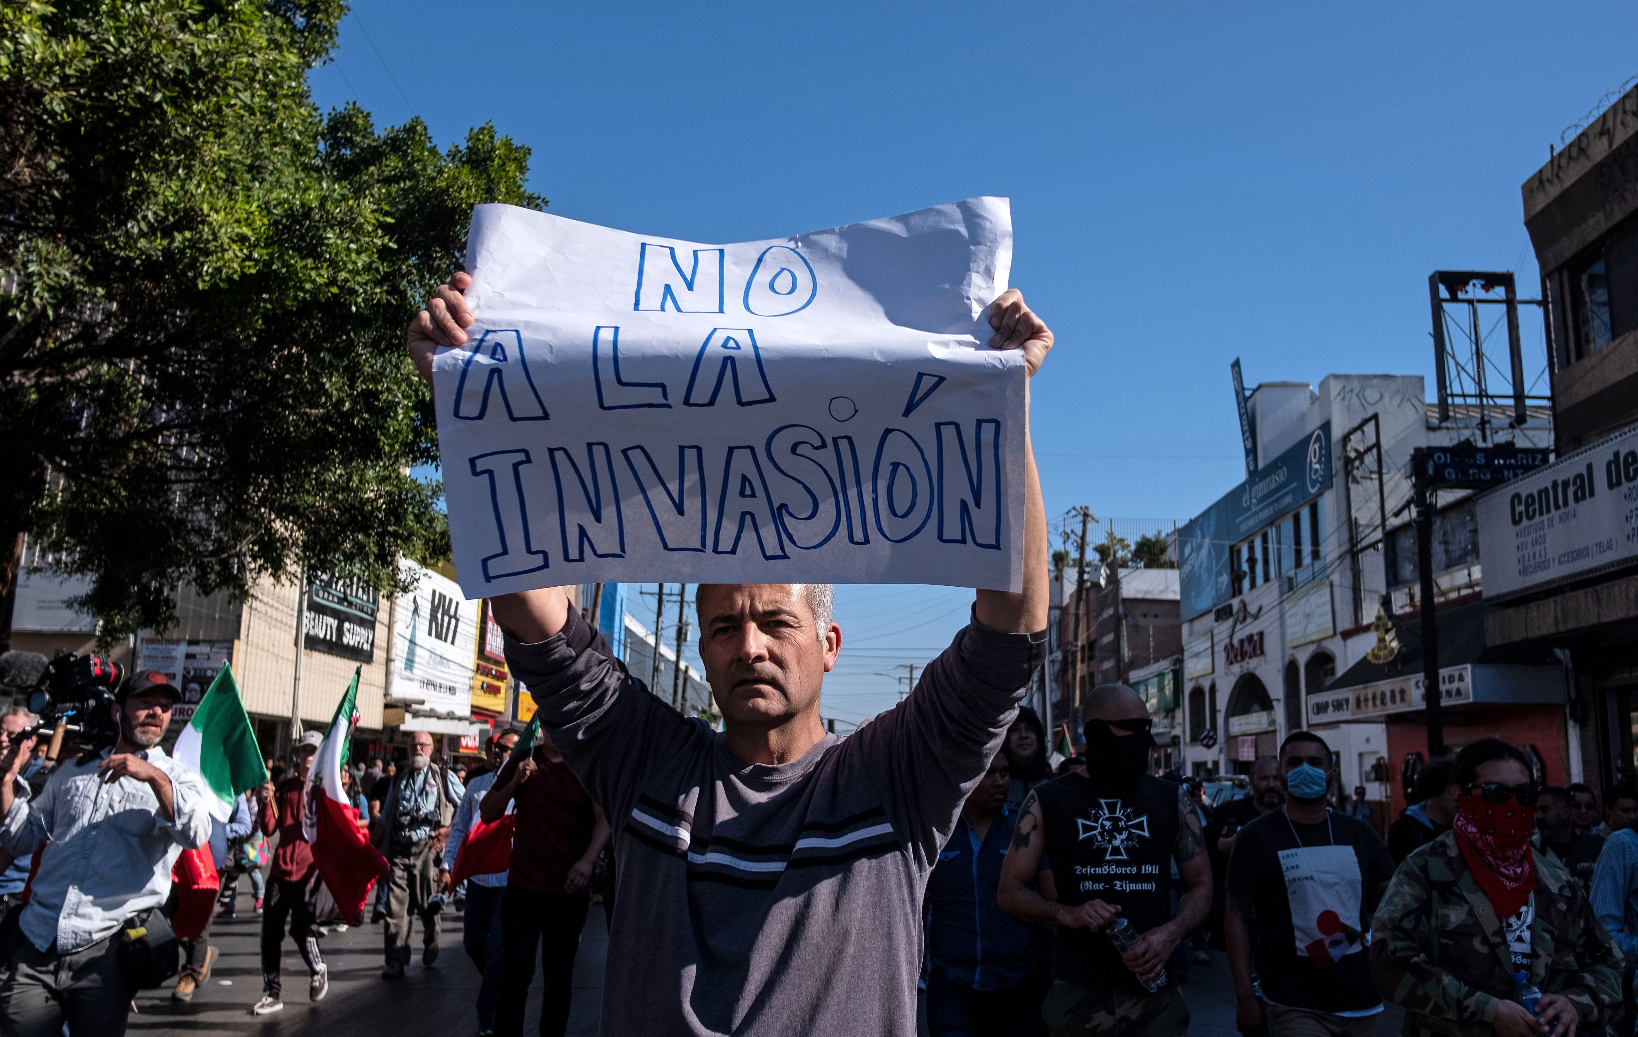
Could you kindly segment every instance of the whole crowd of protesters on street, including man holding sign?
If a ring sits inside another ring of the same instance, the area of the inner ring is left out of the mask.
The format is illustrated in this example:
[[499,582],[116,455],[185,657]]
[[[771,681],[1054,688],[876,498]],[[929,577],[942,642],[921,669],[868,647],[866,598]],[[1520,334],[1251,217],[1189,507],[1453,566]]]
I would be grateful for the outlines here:
[[[465,342],[467,287],[452,278],[410,328],[423,377],[439,347]],[[1022,351],[1034,375],[1047,326],[1016,290],[988,318],[989,344]],[[436,965],[454,898],[482,975],[480,1032],[521,1037],[539,962],[541,1034],[560,1035],[598,885],[611,1035],[907,1037],[925,988],[935,1037],[1163,1037],[1189,1027],[1179,981],[1207,945],[1228,952],[1248,1034],[1364,1034],[1384,1003],[1419,1037],[1630,1032],[1631,790],[1605,795],[1594,829],[1587,790],[1538,788],[1520,750],[1479,739],[1423,768],[1384,844],[1360,790],[1333,803],[1325,739],[1297,731],[1255,762],[1245,798],[1212,809],[1197,786],[1152,772],[1153,721],[1125,685],[1081,696],[1084,752],[1048,768],[1045,731],[1019,709],[1048,618],[1029,452],[1022,480],[1019,590],[978,590],[911,695],[845,739],[819,713],[842,649],[829,585],[699,586],[721,731],[650,695],[565,588],[491,598],[542,737],[521,752],[500,732],[462,780],[416,732],[401,767],[370,762],[342,790],[360,842],[367,832],[380,852],[369,916],[383,981],[413,967],[416,922],[421,967]],[[318,937],[362,919],[326,896],[301,822],[321,736],[303,736],[223,819],[203,778],[161,747],[179,698],[162,673],[134,675],[115,693],[113,744],[54,768],[36,767],[28,719],[7,718],[0,873],[10,881],[44,852],[26,903],[5,904],[0,1037],[123,1034],[133,991],[165,978],[151,950],[175,906],[172,868],[206,845],[231,880],[224,914],[239,876],[265,868],[251,878],[251,1011],[283,1008],[287,935],[310,999],[328,994]],[[508,826],[509,852],[465,876],[462,847]],[[208,927],[180,957],[174,996],[187,999],[215,958]]]

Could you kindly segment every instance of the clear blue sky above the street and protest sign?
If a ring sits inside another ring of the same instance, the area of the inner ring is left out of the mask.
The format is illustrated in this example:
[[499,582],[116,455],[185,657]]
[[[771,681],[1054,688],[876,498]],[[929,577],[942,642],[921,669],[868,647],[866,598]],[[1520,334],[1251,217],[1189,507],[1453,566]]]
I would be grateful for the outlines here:
[[[1518,185],[1638,72],[1635,38],[1612,3],[369,0],[311,85],[441,144],[493,121],[550,211],[672,238],[1011,197],[1012,283],[1058,336],[1048,514],[1183,519],[1240,478],[1235,355],[1250,383],[1432,382],[1430,270],[1535,295]],[[875,673],[968,600],[844,590],[827,711],[891,704]]]

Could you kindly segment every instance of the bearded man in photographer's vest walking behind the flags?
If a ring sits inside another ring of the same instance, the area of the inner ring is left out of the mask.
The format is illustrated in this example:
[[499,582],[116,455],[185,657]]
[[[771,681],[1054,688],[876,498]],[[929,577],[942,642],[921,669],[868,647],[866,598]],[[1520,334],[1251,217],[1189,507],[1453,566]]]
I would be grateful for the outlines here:
[[416,731],[410,744],[410,767],[398,772],[375,827],[375,849],[391,862],[387,886],[387,967],[383,980],[396,980],[410,967],[410,919],[421,919],[421,963],[437,960],[437,916],[444,904],[434,899],[437,865],[449,839],[449,822],[465,788],[442,763],[432,763],[432,736]]

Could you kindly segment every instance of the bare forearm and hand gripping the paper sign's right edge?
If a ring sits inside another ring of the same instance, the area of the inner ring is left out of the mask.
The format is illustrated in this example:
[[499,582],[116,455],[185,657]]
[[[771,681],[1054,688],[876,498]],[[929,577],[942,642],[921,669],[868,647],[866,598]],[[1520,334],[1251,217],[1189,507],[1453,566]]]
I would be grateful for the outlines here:
[[[993,349],[1022,349],[1024,369],[1030,377],[1052,349],[1052,329],[1024,305],[1017,288],[1007,288],[989,308],[989,326],[996,334]],[[1024,390],[1024,590],[978,591],[973,614],[988,627],[1012,634],[1032,634],[1047,626],[1047,506],[1040,496],[1035,451],[1029,439],[1029,388]]]

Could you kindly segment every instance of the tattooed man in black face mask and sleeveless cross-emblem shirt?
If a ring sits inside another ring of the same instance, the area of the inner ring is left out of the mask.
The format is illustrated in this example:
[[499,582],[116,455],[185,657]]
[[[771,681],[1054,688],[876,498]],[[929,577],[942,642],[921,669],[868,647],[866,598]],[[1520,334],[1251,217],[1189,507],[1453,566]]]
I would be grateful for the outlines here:
[[[1081,709],[1086,773],[1038,785],[1024,799],[999,901],[1016,917],[1058,927],[1042,1006],[1053,1037],[1186,1034],[1189,1009],[1165,967],[1212,901],[1199,814],[1183,786],[1147,773],[1155,736],[1137,691],[1099,685]],[[1030,888],[1043,854],[1057,901]],[[1173,860],[1183,881],[1176,914]],[[1099,935],[1117,917],[1137,937],[1124,955]]]

